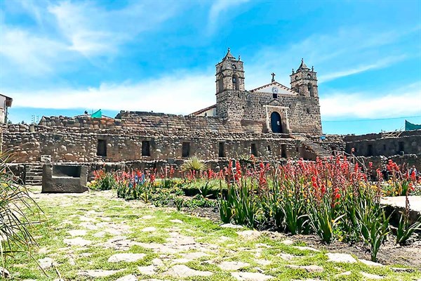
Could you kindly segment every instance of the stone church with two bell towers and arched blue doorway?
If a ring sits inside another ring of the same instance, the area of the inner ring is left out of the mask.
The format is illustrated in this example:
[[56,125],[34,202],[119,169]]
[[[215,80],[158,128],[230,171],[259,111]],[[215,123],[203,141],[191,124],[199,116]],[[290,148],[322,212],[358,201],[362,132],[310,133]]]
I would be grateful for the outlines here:
[[301,61],[290,88],[272,83],[246,91],[243,62],[231,51],[216,65],[216,104],[192,113],[227,119],[241,131],[321,135],[317,73]]

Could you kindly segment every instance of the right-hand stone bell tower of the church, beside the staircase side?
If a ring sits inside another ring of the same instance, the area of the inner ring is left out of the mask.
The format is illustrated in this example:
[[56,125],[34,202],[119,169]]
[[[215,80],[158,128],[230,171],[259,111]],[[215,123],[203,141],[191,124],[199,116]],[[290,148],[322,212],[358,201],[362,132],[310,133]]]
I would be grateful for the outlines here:
[[317,90],[317,72],[314,67],[310,70],[301,59],[301,65],[296,72],[290,74],[291,89],[300,94],[300,96],[319,97]]

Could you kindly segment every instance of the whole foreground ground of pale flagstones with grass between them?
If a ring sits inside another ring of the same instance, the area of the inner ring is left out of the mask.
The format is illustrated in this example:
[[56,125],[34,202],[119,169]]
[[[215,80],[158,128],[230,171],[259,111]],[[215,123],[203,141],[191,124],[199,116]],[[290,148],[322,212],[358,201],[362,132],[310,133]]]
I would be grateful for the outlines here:
[[[328,253],[279,233],[218,226],[114,192],[34,194],[39,249],[7,259],[11,280],[419,280],[413,268]],[[44,268],[46,275],[37,266]],[[408,271],[409,270],[409,271]]]

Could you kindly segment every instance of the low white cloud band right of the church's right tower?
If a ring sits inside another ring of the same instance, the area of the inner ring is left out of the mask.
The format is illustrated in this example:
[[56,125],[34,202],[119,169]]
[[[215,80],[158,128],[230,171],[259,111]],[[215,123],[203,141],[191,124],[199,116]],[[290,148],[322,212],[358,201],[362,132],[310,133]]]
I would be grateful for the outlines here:
[[421,83],[391,89],[382,96],[368,92],[331,93],[320,98],[320,107],[322,118],[330,120],[418,116],[421,115]]

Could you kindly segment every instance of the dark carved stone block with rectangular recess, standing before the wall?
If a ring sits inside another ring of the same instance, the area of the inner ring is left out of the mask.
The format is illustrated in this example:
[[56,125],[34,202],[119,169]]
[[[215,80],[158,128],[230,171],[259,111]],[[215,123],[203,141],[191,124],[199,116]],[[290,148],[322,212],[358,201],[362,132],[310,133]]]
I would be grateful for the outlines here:
[[87,166],[76,164],[45,164],[42,173],[43,193],[82,193],[88,190]]

